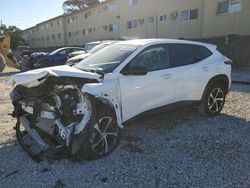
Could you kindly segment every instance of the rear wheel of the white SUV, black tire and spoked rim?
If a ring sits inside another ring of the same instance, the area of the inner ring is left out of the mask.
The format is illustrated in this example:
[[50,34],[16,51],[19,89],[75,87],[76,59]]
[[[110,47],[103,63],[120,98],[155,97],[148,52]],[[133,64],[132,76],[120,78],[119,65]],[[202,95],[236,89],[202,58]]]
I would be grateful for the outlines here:
[[208,85],[198,111],[207,117],[218,115],[224,107],[226,99],[225,87],[220,83]]

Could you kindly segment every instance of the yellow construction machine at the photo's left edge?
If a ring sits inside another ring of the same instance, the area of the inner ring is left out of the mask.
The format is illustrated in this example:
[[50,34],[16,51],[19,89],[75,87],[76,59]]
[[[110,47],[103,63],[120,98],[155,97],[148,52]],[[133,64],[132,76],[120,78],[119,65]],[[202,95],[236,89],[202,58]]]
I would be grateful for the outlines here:
[[0,36],[0,72],[4,70],[6,65],[17,69],[21,67],[17,58],[11,54],[9,35]]

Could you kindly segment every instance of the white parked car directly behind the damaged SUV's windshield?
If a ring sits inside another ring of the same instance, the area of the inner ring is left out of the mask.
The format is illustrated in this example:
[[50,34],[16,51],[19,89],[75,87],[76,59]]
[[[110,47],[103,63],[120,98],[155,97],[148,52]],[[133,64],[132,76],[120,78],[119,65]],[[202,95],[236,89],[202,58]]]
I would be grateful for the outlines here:
[[89,57],[90,55],[98,52],[99,50],[103,49],[104,47],[106,46],[109,46],[110,44],[113,44],[115,42],[118,42],[118,41],[106,41],[106,42],[102,42],[101,44],[95,46],[94,48],[92,48],[89,52],[87,53],[82,53],[78,56],[75,56],[75,57],[72,57],[72,58],[69,58],[67,61],[66,61],[66,65],[74,65],[76,63],[79,63],[80,61],[86,59],[87,57]]

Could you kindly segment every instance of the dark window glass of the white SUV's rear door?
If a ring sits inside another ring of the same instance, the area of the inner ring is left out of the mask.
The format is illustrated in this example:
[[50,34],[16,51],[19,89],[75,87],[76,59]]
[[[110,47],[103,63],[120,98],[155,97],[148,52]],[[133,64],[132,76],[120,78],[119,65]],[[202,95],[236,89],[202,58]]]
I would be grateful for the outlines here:
[[171,67],[190,65],[195,62],[192,45],[170,44],[169,48],[170,48]]

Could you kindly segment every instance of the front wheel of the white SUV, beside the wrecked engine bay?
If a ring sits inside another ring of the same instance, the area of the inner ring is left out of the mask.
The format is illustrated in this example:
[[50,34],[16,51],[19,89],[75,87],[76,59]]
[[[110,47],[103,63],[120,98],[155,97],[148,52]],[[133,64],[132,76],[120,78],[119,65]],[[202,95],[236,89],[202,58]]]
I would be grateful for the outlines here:
[[120,141],[120,128],[114,113],[101,110],[92,121],[85,142],[88,159],[100,159],[110,154]]

